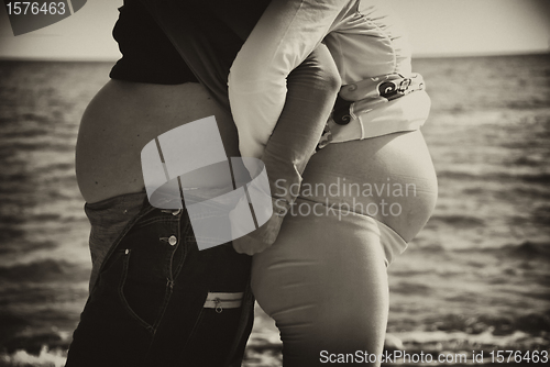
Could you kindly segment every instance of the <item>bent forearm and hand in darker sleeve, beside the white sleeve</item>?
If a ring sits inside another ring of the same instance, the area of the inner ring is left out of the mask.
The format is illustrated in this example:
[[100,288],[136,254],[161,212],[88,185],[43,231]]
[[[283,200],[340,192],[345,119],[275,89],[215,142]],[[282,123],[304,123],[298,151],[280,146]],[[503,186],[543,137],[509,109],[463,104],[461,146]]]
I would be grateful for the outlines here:
[[338,69],[323,44],[290,73],[283,112],[262,155],[274,198],[274,214],[258,230],[233,240],[238,252],[253,255],[277,238],[339,90]]

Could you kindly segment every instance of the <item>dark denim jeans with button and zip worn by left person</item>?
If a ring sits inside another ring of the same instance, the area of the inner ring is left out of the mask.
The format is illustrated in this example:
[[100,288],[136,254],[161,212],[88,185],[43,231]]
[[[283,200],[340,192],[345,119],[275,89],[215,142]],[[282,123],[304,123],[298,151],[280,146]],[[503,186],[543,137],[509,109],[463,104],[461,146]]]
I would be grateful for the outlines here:
[[[66,366],[240,366],[253,322],[251,257],[231,243],[198,251],[185,209],[143,197],[101,263]],[[128,212],[116,199],[87,208],[92,234],[109,222],[96,218],[106,209]]]

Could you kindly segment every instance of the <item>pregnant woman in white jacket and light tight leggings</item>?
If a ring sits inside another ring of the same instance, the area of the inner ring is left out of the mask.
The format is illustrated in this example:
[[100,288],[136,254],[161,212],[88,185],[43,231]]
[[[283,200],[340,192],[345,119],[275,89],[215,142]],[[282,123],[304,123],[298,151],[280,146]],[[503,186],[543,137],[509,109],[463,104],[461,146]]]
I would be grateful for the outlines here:
[[[311,146],[295,144],[296,135],[311,125],[307,108],[285,102],[286,77],[323,45],[342,84],[324,136],[332,144],[299,177],[305,163],[296,157],[309,158]],[[270,176],[283,201],[279,216],[286,214],[275,243],[266,246],[265,238],[276,227],[233,242],[255,253],[253,292],[280,331],[284,366],[380,365],[386,267],[426,224],[437,199],[418,130],[430,103],[421,77],[411,73],[399,20],[383,1],[273,0],[231,68],[229,92],[242,155],[261,157],[270,175],[273,166],[286,173]],[[282,111],[292,130],[277,122]]]

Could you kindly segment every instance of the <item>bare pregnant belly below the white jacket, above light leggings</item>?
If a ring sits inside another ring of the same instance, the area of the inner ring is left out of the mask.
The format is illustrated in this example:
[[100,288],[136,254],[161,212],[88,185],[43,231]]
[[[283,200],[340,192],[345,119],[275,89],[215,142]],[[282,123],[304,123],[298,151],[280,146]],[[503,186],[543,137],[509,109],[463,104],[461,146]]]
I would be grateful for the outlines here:
[[329,144],[304,173],[301,198],[372,216],[410,241],[437,199],[437,178],[420,131]]

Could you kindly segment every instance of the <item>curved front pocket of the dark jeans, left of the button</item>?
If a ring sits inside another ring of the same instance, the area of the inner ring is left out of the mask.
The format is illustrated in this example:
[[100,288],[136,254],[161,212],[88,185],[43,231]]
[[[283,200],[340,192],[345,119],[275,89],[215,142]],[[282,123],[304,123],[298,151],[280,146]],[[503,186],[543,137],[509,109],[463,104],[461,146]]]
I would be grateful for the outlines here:
[[132,268],[135,256],[140,256],[139,252],[125,249],[119,297],[127,312],[142,326],[154,332],[169,299],[170,283],[158,277],[147,277],[148,273],[144,269]]

